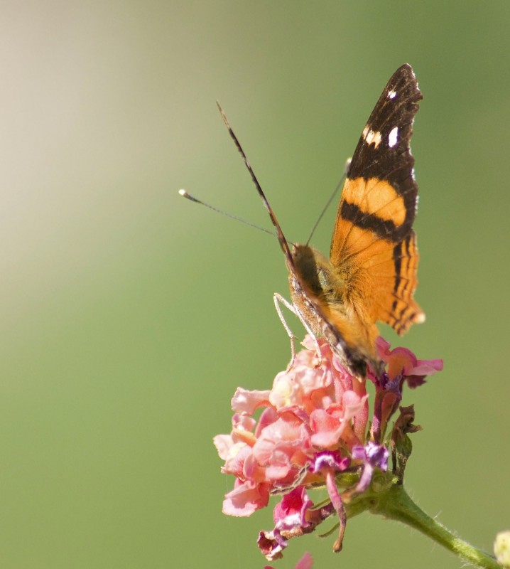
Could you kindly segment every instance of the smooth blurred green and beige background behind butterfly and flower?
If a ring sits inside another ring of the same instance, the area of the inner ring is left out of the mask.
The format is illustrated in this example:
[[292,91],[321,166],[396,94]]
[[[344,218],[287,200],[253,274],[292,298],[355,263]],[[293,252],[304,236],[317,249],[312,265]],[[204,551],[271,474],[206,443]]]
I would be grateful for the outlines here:
[[[445,358],[406,393],[424,427],[406,485],[489,550],[510,524],[510,3],[6,1],[0,42],[1,567],[264,566],[271,511],[221,514],[233,479],[212,436],[237,385],[288,362],[283,256],[177,191],[269,226],[219,99],[305,240],[404,62],[424,95],[427,322],[403,345]],[[333,541],[295,540],[276,566],[306,550],[317,568],[462,565],[367,514]]]

